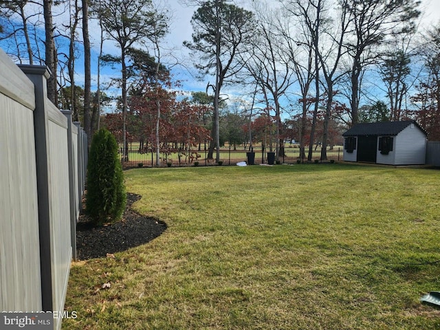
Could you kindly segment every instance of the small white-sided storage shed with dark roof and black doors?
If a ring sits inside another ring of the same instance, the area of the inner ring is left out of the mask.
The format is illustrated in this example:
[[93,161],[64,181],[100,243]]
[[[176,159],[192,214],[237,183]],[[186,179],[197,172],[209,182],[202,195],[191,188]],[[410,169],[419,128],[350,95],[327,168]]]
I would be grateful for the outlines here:
[[342,134],[344,161],[423,165],[426,131],[413,120],[356,124]]

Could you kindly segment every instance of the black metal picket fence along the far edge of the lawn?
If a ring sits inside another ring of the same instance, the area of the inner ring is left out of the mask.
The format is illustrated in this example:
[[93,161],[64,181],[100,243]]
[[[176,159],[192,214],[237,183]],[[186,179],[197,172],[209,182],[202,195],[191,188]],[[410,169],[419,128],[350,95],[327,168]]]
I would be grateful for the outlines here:
[[[327,148],[327,159],[321,159],[322,148],[314,148],[312,162],[342,160],[342,148]],[[281,150],[278,159],[269,148],[257,146],[253,148],[253,154],[248,148],[224,146],[220,148],[220,162],[215,162],[216,152],[213,158],[208,158],[208,148],[161,148],[159,159],[155,148],[126,148],[126,157],[122,157],[123,148],[120,148],[120,156],[123,168],[133,167],[166,167],[166,166],[212,166],[212,165],[236,165],[239,162],[252,164],[296,164],[307,162],[309,149],[304,152],[298,146],[286,146]],[[253,155],[253,157],[252,157]],[[159,164],[157,166],[157,164]]]

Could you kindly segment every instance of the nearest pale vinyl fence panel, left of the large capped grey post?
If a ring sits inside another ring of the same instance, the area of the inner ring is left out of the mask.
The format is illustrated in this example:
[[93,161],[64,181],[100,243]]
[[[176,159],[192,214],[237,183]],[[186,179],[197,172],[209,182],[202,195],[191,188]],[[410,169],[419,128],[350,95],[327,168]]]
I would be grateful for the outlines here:
[[0,52],[0,311],[39,311],[34,85]]

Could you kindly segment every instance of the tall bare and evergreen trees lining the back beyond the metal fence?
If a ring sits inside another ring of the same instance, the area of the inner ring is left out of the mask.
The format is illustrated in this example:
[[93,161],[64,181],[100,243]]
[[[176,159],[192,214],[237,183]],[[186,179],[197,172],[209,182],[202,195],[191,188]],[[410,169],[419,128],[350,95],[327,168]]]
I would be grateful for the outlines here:
[[[417,120],[430,140],[440,140],[440,25],[419,28],[419,1],[187,3],[196,9],[184,47],[200,76],[214,83],[186,98],[170,71],[184,58],[165,51],[172,14],[155,1],[2,0],[1,45],[21,63],[49,67],[50,98],[72,109],[87,133],[100,125],[104,103],[115,104],[104,120],[120,142],[137,140],[157,153],[162,144],[206,143],[218,158],[224,141],[250,148],[259,142],[278,159],[285,141],[296,140],[322,143],[326,159],[325,147],[340,131],[385,120]],[[54,26],[54,11],[67,17],[62,25]],[[100,41],[94,91],[89,24]],[[102,52],[110,42],[117,56]],[[116,100],[100,85],[102,65],[118,68]],[[239,102],[223,95],[226,86],[240,90]]]

